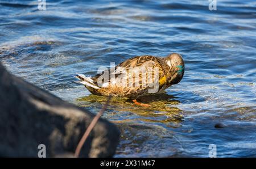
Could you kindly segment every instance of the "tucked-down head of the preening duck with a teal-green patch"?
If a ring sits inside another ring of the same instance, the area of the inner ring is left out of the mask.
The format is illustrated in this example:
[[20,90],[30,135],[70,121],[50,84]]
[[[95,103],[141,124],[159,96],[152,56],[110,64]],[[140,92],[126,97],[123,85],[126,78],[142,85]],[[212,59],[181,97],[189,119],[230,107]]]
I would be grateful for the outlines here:
[[168,73],[167,73],[167,82],[170,84],[177,84],[183,78],[185,65],[183,58],[180,54],[171,53],[164,58],[166,63]]

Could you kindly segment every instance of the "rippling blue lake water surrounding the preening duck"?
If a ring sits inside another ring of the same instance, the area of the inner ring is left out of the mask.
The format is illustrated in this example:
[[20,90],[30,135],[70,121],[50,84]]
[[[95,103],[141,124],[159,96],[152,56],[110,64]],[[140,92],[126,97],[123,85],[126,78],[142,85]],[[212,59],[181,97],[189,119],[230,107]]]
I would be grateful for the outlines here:
[[[12,73],[97,113],[106,98],[72,83],[129,57],[180,53],[183,80],[150,108],[113,98],[115,157],[256,157],[256,2],[0,1],[0,58]],[[222,122],[225,128],[214,128]]]

